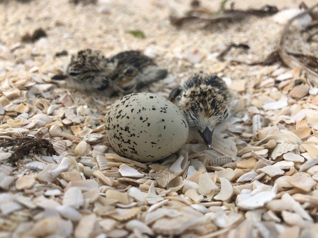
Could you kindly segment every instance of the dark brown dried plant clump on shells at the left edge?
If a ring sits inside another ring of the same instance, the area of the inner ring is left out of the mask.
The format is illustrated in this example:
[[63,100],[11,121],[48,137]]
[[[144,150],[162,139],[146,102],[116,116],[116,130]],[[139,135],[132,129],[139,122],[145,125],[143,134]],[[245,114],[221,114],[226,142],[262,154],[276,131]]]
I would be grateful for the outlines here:
[[15,151],[14,154],[8,159],[8,163],[15,162],[22,159],[24,155],[28,155],[30,150],[35,154],[54,155],[55,151],[50,141],[40,137],[18,137],[13,140],[4,139],[0,141],[0,147],[7,148],[13,146],[11,150]]

